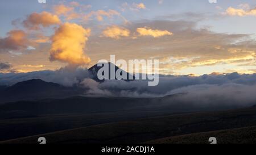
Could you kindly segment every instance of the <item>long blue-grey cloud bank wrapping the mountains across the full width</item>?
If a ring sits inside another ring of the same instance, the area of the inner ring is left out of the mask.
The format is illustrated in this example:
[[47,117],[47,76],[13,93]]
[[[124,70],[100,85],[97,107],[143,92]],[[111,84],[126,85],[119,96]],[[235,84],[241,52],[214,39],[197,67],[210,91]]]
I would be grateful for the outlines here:
[[148,81],[142,80],[108,80],[99,83],[91,77],[87,69],[66,67],[55,71],[0,73],[0,85],[40,78],[64,86],[78,86],[84,89],[85,96],[90,97],[165,97],[158,100],[158,106],[179,105],[183,110],[246,107],[256,103],[256,74],[214,73],[199,77],[160,75],[159,85],[154,87],[149,87]]

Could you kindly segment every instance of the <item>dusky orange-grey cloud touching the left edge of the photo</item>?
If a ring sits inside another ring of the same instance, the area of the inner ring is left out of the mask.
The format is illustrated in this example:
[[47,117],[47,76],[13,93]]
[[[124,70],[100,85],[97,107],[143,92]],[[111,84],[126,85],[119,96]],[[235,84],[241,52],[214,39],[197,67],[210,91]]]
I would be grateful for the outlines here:
[[23,30],[11,30],[7,33],[7,37],[0,38],[0,51],[16,51],[26,49],[29,41],[27,34]]

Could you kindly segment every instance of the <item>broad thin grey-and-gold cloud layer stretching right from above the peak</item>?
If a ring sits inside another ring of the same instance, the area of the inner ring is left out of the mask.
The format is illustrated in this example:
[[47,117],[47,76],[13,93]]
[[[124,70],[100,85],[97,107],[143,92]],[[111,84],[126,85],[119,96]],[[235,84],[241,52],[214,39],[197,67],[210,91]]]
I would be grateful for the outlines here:
[[[151,27],[152,30],[166,30],[175,35],[158,39],[138,37],[137,28],[144,26]],[[198,28],[196,22],[183,20],[144,20],[129,24],[127,29],[135,32],[133,34],[137,39],[91,37],[89,52],[97,52],[97,59],[106,59],[109,55],[118,55],[125,60],[155,58],[160,62],[162,74],[201,75],[216,71],[231,73],[240,72],[241,69],[255,69],[256,42],[249,34],[217,33],[208,28]],[[135,54],[130,55],[130,51]],[[250,62],[251,65],[244,64],[245,62]],[[241,66],[242,64],[244,65]]]

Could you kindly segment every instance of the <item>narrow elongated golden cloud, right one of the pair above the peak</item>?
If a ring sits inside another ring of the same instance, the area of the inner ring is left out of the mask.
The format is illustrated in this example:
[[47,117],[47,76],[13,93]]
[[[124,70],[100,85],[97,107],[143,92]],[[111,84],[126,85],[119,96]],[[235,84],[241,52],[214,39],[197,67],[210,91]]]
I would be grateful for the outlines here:
[[141,27],[137,28],[137,32],[139,36],[153,36],[153,37],[161,37],[165,35],[172,35],[172,32],[167,30],[152,30],[150,27]]

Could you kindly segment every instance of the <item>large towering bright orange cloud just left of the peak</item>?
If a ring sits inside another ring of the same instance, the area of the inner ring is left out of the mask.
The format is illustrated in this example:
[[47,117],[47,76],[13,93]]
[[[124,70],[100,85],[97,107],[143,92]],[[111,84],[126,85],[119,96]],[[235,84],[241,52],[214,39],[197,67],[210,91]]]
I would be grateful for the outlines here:
[[90,29],[85,29],[75,23],[64,23],[52,36],[50,60],[68,62],[72,65],[85,65],[90,58],[85,55],[85,45],[90,35]]

